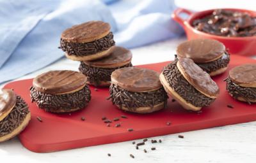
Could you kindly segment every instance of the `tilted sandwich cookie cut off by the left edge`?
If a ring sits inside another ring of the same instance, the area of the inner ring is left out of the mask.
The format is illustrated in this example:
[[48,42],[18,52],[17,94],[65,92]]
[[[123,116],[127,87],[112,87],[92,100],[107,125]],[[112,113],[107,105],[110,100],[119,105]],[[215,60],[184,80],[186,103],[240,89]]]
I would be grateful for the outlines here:
[[19,134],[31,118],[28,104],[11,89],[0,89],[0,142]]

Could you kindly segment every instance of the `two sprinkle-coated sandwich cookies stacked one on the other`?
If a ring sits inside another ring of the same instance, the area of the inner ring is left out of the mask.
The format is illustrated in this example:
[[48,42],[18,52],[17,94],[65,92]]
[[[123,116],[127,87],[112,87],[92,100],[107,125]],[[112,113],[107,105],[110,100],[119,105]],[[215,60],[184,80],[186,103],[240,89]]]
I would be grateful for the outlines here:
[[115,69],[131,67],[130,50],[115,46],[110,25],[90,21],[75,25],[61,34],[60,48],[68,59],[79,60],[79,71],[96,87],[109,87]]

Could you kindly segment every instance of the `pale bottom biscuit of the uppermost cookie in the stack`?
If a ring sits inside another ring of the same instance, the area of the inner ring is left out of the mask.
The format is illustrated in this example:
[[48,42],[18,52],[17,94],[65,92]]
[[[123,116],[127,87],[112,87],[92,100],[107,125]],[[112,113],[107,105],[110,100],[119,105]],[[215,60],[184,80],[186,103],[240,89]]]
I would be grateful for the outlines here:
[[108,50],[104,50],[102,52],[91,54],[91,55],[76,56],[76,55],[68,55],[67,53],[65,53],[65,55],[68,59],[71,59],[71,60],[86,61],[86,60],[95,60],[95,59],[106,57],[110,55],[112,51],[113,51],[113,46],[110,47]]

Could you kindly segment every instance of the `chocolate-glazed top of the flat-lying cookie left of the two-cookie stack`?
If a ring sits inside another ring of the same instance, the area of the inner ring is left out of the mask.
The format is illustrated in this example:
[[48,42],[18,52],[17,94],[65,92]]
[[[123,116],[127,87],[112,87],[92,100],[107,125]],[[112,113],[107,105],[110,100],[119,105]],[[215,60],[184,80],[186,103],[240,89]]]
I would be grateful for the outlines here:
[[45,94],[65,94],[83,87],[86,76],[77,71],[48,71],[36,76],[33,87]]

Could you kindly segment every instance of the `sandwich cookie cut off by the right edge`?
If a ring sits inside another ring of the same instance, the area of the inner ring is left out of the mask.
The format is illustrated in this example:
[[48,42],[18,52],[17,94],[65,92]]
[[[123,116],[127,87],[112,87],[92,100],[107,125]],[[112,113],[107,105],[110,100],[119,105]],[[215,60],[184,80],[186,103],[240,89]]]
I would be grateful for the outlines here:
[[256,103],[256,64],[243,64],[229,71],[227,90],[230,96],[248,104]]

